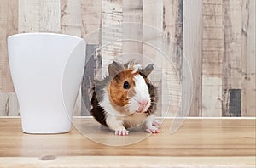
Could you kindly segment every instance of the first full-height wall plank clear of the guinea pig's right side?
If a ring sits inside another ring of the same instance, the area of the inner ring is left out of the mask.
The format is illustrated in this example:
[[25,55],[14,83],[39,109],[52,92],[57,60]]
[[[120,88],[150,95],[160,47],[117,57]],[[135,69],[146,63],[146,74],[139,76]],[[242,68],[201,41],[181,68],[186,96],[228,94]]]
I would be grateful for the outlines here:
[[182,94],[180,76],[183,59],[183,1],[163,1],[162,26],[161,45],[166,53],[165,59],[162,59],[162,106],[169,106],[168,115],[175,116],[181,106]]

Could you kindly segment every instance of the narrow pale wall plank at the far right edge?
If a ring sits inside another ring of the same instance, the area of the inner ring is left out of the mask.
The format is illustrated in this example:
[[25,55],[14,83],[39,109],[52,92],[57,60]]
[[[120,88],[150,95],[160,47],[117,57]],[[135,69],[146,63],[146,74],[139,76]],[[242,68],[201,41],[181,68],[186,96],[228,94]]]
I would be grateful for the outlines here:
[[242,1],[241,115],[256,116],[255,1]]

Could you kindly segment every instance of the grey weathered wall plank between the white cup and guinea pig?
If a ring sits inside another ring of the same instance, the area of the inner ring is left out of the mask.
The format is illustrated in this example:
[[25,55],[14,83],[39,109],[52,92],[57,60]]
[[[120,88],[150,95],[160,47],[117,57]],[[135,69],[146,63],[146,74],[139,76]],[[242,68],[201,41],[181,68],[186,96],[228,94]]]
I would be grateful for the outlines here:
[[84,67],[84,76],[82,81],[82,116],[90,115],[90,98],[92,96],[92,88],[94,87],[94,79],[96,70],[102,66],[102,57],[96,53],[98,46],[96,44],[87,44],[86,59]]

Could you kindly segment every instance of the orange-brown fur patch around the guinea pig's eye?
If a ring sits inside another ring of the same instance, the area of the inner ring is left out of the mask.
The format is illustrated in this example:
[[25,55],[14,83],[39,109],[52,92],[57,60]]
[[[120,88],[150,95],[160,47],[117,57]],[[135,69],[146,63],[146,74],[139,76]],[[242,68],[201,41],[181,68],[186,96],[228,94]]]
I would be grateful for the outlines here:
[[[138,72],[132,73],[132,71],[133,69],[124,70],[113,77],[108,88],[110,100],[113,104],[124,107],[129,103],[128,98],[134,96],[135,92],[133,87],[135,87],[135,82],[133,81],[133,76],[136,76]],[[125,81],[129,82],[129,89],[123,88]]]

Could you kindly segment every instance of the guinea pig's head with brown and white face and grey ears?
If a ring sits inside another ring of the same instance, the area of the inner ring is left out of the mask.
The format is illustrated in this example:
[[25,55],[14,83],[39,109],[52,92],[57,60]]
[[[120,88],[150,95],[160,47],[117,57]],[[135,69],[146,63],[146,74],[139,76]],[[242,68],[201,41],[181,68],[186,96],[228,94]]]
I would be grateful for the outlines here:
[[119,64],[114,62],[108,66],[111,81],[108,95],[111,104],[120,113],[143,113],[151,104],[148,75],[154,69],[153,64],[142,68],[140,64]]

